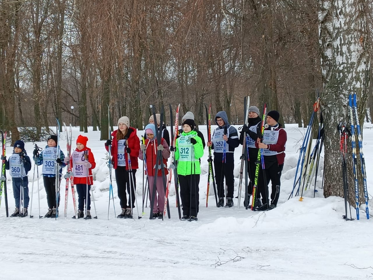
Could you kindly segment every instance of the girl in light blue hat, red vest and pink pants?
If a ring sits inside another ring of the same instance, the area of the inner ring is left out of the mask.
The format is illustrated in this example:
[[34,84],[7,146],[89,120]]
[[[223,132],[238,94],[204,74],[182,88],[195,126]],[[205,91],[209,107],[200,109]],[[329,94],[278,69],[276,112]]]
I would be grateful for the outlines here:
[[[139,154],[139,159],[146,160],[146,167],[147,167],[147,175],[148,175],[148,182],[149,182],[149,194],[150,194],[150,201],[153,195],[153,184],[155,179],[155,168],[156,168],[156,159],[157,159],[157,152],[162,151],[163,157],[163,167],[164,167],[164,174],[167,175],[167,159],[170,157],[170,148],[167,144],[165,139],[161,139],[161,143],[157,143],[156,139],[156,127],[154,124],[148,124],[145,127],[145,133],[147,139],[145,140],[145,144],[141,144],[141,150]],[[154,195],[154,204],[153,204],[153,217],[152,219],[162,219],[163,210],[164,210],[164,185],[163,185],[163,178],[162,178],[162,169],[158,170],[157,173],[157,182],[156,182],[156,190],[158,193]]]

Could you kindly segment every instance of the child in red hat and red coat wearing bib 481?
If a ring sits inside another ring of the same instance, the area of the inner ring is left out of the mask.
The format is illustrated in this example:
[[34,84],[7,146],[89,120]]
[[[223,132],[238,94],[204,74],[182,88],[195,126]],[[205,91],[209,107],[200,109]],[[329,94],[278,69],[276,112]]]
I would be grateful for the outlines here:
[[[90,148],[86,147],[88,138],[79,135],[76,139],[76,149],[70,157],[65,157],[65,163],[70,161],[74,175],[74,185],[78,192],[78,219],[84,217],[84,201],[87,214],[86,219],[91,219],[91,194],[93,184],[92,169],[96,167],[94,156]],[[88,190],[87,190],[88,185]],[[88,196],[87,196],[88,194]]]

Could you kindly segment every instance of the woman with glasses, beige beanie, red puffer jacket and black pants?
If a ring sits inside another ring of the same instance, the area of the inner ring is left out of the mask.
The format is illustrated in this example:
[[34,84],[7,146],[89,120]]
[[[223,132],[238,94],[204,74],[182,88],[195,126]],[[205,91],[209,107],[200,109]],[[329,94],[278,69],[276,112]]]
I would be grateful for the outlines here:
[[[121,117],[118,120],[118,129],[112,133],[113,140],[107,140],[106,150],[111,145],[112,164],[115,169],[115,179],[118,187],[118,197],[122,213],[118,218],[132,218],[131,206],[127,204],[127,192],[131,190],[132,209],[135,208],[136,169],[138,169],[138,155],[140,150],[140,139],[137,137],[136,128],[129,126],[129,118]],[[129,159],[128,159],[129,155]],[[131,166],[130,164],[131,163]],[[130,182],[133,179],[133,186]]]

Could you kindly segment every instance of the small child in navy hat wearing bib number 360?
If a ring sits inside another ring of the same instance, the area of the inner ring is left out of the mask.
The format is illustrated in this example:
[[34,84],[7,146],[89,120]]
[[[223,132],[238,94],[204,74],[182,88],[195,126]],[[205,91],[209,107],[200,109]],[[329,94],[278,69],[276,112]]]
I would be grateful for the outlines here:
[[[13,154],[6,160],[6,156],[1,156],[5,161],[5,169],[9,170],[12,176],[13,197],[16,203],[16,209],[11,217],[26,217],[29,203],[28,196],[28,177],[27,173],[31,170],[31,161],[25,150],[25,143],[21,140],[15,141]],[[21,196],[22,188],[22,196]],[[23,209],[20,209],[20,202],[23,201]]]

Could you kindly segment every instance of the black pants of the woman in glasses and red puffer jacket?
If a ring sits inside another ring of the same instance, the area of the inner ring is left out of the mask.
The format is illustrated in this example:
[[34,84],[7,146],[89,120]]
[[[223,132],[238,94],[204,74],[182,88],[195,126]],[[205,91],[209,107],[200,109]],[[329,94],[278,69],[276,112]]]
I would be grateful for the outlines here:
[[[136,169],[132,169],[131,171],[131,178],[133,178],[133,185],[130,184],[130,172],[126,170],[126,166],[117,166],[115,169],[115,179],[117,182],[118,187],[118,197],[120,200],[120,207],[121,208],[131,208],[129,203],[127,205],[127,193],[129,194],[131,190],[131,195],[128,195],[128,200],[132,196],[132,208],[135,208],[135,190],[136,190]],[[127,193],[126,193],[127,189]]]

